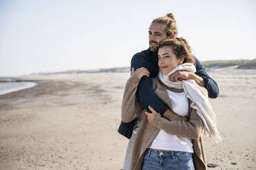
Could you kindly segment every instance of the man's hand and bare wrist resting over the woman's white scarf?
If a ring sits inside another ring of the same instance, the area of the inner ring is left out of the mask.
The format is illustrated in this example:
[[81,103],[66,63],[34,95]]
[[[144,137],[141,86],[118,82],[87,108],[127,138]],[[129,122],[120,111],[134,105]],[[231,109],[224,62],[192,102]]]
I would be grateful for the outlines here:
[[182,80],[195,80],[195,82],[199,85],[204,87],[204,79],[195,73],[191,73],[189,71],[175,71],[171,75],[169,75],[169,79],[171,82],[177,82]]

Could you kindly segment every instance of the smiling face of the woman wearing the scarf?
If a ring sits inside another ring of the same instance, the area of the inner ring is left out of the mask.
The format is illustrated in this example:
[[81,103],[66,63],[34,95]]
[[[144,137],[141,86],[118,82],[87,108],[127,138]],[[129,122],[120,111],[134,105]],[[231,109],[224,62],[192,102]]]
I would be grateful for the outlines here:
[[183,61],[184,58],[176,58],[171,47],[161,47],[158,50],[158,66],[163,75],[170,73],[176,66],[182,64]]

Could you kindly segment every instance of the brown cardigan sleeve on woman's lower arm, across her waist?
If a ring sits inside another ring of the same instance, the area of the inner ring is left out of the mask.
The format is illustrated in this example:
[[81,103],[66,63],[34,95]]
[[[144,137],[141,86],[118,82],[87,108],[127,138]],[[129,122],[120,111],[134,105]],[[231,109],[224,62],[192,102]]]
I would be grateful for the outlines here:
[[164,130],[167,134],[195,139],[200,138],[204,128],[204,123],[195,109],[191,110],[189,121],[169,121],[160,117],[160,114],[156,114],[153,119],[153,125]]

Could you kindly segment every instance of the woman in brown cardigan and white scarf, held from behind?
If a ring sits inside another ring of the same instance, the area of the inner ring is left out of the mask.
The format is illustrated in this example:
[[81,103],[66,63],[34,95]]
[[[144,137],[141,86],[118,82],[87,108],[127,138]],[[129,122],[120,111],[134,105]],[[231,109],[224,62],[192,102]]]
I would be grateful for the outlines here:
[[[183,38],[164,40],[158,51],[160,73],[154,78],[153,90],[169,108],[189,121],[173,121],[151,114],[136,101],[136,88],[147,69],[132,71],[122,101],[122,121],[142,117],[131,158],[131,169],[206,169],[202,132],[220,139],[215,114],[207,92],[193,80],[171,82],[169,75],[178,70],[195,72],[195,61]],[[188,100],[189,99],[189,100]]]

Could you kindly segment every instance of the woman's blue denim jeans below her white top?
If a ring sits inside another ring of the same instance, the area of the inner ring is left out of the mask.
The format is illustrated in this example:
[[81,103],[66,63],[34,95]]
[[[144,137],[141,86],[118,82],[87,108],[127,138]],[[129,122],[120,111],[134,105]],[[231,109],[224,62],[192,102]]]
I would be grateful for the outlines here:
[[192,153],[147,149],[142,170],[194,170]]

